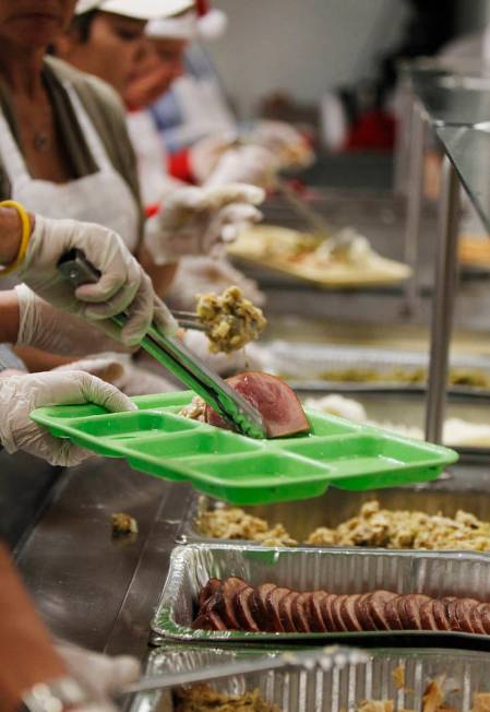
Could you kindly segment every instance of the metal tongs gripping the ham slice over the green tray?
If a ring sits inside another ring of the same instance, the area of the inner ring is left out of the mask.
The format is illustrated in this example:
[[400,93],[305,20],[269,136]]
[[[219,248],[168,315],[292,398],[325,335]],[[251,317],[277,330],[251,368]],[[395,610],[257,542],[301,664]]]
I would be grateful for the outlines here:
[[[71,250],[58,263],[58,270],[73,287],[98,282],[100,273],[85,258],[81,250]],[[124,327],[128,313],[121,312],[111,318],[119,328]],[[188,388],[192,389],[234,429],[251,438],[266,438],[266,428],[261,414],[226,381],[189,351],[179,340],[165,336],[153,323],[141,341],[151,356],[168,368]]]

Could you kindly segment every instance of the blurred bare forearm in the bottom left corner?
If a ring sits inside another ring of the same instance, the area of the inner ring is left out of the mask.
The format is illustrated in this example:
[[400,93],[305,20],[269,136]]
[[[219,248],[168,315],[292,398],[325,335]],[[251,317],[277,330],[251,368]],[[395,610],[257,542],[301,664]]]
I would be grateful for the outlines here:
[[67,675],[7,549],[0,545],[0,699],[13,712],[37,683]]

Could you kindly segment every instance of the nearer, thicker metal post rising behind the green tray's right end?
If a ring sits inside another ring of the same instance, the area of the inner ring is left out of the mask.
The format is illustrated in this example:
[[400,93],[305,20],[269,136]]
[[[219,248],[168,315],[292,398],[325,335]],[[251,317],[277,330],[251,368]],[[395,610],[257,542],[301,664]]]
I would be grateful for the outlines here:
[[442,190],[435,254],[434,295],[426,410],[426,439],[441,442],[453,311],[456,292],[459,180],[447,156],[442,164]]

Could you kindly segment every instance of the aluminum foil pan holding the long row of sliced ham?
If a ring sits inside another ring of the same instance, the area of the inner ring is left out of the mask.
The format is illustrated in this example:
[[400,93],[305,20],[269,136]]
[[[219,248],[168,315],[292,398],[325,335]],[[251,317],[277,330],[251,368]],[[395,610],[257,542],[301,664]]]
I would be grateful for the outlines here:
[[[382,549],[274,548],[229,544],[190,544],[174,549],[167,581],[152,620],[153,640],[266,642],[301,640],[359,641],[416,639],[481,641],[490,636],[441,631],[372,631],[349,633],[252,633],[193,630],[198,594],[211,579],[237,575],[253,586],[271,582],[297,591],[364,593],[386,589],[432,597],[470,596],[490,601],[490,557],[468,551],[387,551]],[[156,638],[155,638],[156,636]],[[381,644],[381,643],[380,643]]]

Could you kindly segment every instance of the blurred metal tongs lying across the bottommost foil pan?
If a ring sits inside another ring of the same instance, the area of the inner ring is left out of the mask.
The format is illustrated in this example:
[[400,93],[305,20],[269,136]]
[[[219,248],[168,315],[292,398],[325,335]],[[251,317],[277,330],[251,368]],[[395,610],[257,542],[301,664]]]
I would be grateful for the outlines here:
[[279,655],[261,655],[248,660],[236,660],[229,663],[207,665],[198,671],[183,673],[166,673],[154,677],[143,677],[140,681],[123,688],[120,695],[134,695],[136,692],[151,692],[165,690],[182,685],[193,685],[203,681],[214,681],[236,675],[264,673],[267,671],[307,671],[342,669],[347,665],[366,664],[369,656],[356,648],[321,648],[301,652],[286,652]]

